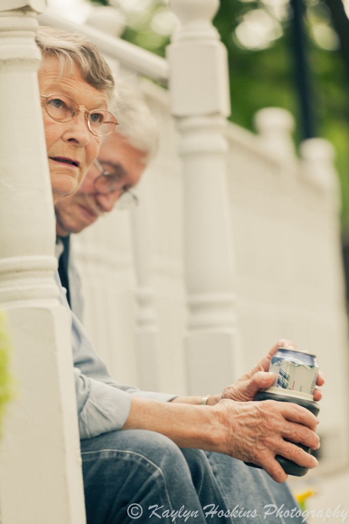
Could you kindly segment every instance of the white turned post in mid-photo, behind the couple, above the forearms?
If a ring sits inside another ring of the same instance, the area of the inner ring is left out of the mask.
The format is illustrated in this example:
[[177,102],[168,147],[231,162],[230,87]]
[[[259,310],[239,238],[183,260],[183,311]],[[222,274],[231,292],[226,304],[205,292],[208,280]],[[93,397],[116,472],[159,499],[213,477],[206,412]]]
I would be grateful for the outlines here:
[[207,394],[241,372],[226,184],[226,50],[211,19],[218,0],[171,0],[180,28],[168,47],[171,111],[181,134],[188,393]]

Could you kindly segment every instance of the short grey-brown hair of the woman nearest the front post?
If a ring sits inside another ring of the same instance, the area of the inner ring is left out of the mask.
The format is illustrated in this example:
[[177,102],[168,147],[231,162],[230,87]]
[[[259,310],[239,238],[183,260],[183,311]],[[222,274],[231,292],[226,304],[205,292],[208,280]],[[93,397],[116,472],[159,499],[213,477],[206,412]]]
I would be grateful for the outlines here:
[[54,56],[60,61],[61,73],[77,65],[82,78],[95,89],[105,92],[111,101],[114,94],[113,74],[96,46],[79,33],[53,27],[39,27],[36,43],[42,57]]

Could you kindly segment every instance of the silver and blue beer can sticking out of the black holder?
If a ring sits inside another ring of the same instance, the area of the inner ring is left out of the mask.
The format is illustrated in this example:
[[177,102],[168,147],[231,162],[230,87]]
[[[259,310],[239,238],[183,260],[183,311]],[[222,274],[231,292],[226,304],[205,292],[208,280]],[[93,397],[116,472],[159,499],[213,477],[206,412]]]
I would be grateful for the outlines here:
[[272,387],[281,388],[288,394],[291,391],[314,394],[319,366],[313,353],[279,347],[271,358],[269,371],[275,374]]

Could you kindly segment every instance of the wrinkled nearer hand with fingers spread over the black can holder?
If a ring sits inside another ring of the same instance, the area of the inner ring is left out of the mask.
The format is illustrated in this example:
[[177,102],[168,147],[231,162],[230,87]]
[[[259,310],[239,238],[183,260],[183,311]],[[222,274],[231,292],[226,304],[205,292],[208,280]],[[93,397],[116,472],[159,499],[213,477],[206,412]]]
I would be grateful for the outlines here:
[[[315,457],[292,442],[315,450],[319,437],[314,433],[317,418],[306,408],[291,402],[232,402],[221,400],[214,409],[224,425],[226,438],[222,453],[260,465],[276,482],[285,482],[287,474],[275,460],[279,454],[300,466],[318,465]],[[286,442],[284,438],[292,442]]]

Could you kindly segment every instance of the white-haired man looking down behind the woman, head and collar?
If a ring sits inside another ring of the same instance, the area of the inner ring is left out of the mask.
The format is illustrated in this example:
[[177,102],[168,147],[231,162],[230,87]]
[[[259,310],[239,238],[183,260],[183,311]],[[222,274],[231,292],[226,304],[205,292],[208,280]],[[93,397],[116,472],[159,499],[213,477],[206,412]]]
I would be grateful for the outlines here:
[[[118,100],[121,100],[121,103]],[[112,108],[121,125],[104,137],[98,159],[77,192],[55,205],[59,276],[72,311],[82,320],[80,278],[70,253],[70,233],[79,233],[104,213],[137,204],[132,188],[157,149],[158,131],[148,106],[133,86],[119,81]],[[63,248],[63,250],[62,250]]]

